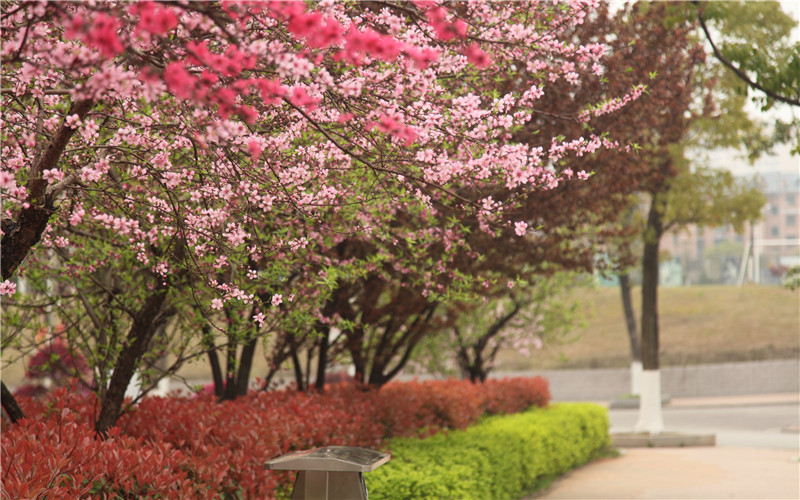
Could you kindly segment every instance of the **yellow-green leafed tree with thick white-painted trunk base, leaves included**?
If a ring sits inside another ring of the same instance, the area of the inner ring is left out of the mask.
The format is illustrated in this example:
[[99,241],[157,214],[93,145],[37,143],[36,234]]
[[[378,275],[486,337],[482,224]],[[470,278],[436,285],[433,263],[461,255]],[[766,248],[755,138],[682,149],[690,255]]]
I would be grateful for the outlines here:
[[[678,21],[690,32],[691,20]],[[764,33],[766,29],[762,31]],[[660,412],[658,281],[659,242],[663,234],[686,225],[732,225],[741,230],[747,221],[760,215],[763,195],[753,186],[737,181],[728,171],[699,167],[687,160],[690,147],[741,146],[761,144],[761,129],[744,112],[744,99],[730,81],[720,76],[714,66],[703,64],[702,58],[687,61],[683,100],[670,100],[676,113],[667,122],[670,134],[658,137],[647,158],[660,175],[651,179],[647,193],[646,217],[642,228],[642,316],[641,347],[644,369],[642,400],[637,430],[661,432]],[[719,79],[715,79],[716,75]],[[753,138],[756,140],[753,140]],[[664,140],[667,139],[667,140]],[[653,154],[655,153],[655,154]],[[702,161],[702,160],[701,160]]]

